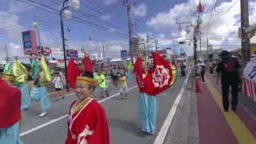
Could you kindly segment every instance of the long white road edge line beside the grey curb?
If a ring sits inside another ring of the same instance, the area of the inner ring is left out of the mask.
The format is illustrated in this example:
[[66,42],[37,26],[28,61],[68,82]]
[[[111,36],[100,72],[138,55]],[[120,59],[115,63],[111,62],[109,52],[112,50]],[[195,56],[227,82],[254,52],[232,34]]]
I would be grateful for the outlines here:
[[174,105],[171,107],[170,112],[169,112],[168,116],[166,117],[166,121],[163,123],[162,128],[158,133],[158,137],[154,141],[154,144],[162,144],[165,141],[166,134],[169,130],[171,122],[174,119],[174,114],[176,113],[176,110],[178,109],[178,104],[181,101],[182,94],[185,90],[186,82],[187,82],[188,78],[190,77],[190,72],[189,72],[189,74],[187,74],[186,80],[182,86],[182,90],[179,91],[178,97],[175,99]]

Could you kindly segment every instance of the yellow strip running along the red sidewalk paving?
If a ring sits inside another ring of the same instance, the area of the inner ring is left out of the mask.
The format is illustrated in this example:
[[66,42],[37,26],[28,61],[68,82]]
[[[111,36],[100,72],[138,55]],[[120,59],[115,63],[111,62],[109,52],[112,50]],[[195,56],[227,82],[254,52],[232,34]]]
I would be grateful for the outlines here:
[[247,129],[242,120],[238,117],[237,114],[234,113],[233,110],[224,112],[222,106],[222,96],[219,94],[218,90],[214,88],[214,85],[210,82],[208,78],[205,78],[206,86],[210,90],[210,94],[214,98],[214,101],[217,102],[218,108],[222,111],[226,122],[230,125],[231,130],[233,131],[235,137],[238,139],[239,143],[246,144],[255,144],[256,139],[254,135],[250,133],[250,130]]

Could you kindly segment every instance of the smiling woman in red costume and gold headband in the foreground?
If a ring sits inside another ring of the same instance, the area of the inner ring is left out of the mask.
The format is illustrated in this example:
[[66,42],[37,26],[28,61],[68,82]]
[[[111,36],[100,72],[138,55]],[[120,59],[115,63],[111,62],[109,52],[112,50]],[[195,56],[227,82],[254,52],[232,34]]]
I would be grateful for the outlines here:
[[[86,55],[87,57],[87,55]],[[90,58],[88,57],[90,60]],[[72,61],[72,59],[70,60]],[[74,62],[69,66],[77,68]],[[96,82],[91,70],[85,70],[77,77],[75,92],[77,100],[70,106],[66,144],[109,144],[109,128],[102,106],[92,98]]]

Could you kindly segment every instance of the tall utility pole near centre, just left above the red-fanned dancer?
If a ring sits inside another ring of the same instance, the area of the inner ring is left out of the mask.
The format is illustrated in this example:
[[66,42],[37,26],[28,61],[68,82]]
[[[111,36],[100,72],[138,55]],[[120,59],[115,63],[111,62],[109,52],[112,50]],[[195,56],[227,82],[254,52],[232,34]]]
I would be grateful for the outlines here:
[[127,6],[127,14],[128,14],[128,34],[129,34],[129,47],[130,47],[130,59],[132,65],[134,65],[134,56],[133,56],[133,51],[132,51],[132,19],[131,19],[131,8],[132,6],[130,5],[129,0],[123,0],[122,3],[123,6]]

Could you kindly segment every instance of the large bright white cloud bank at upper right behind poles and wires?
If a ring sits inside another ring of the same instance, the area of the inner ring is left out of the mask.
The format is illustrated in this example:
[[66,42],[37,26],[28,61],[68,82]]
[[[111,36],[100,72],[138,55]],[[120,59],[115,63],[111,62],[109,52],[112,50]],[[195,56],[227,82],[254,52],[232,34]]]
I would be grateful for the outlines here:
[[[232,0],[231,2],[219,2],[215,8],[216,11],[226,11],[230,8],[230,6],[234,5],[237,0]],[[195,10],[193,6],[193,1],[190,2],[191,10]],[[198,0],[195,0],[197,5]],[[204,5],[211,6],[212,0],[205,0]],[[256,2],[250,2],[250,7],[255,7]],[[207,9],[207,8],[206,8]],[[149,21],[146,22],[147,26],[153,27],[158,31],[170,31],[170,37],[177,36],[190,36],[192,38],[192,34],[185,34],[185,31],[179,32],[178,25],[175,22],[188,22],[190,21],[189,14],[190,6],[188,3],[180,3],[174,7],[172,7],[167,12],[161,12],[156,14],[153,18],[150,18]],[[241,39],[238,38],[238,27],[240,27],[240,12],[236,11],[240,10],[240,1],[230,9],[230,11],[226,12],[222,16],[224,12],[213,12],[211,17],[211,22],[218,18],[218,21],[213,22],[209,26],[210,20],[210,10],[202,15],[202,50],[206,49],[206,34],[209,30],[209,42],[210,45],[215,45],[214,48],[224,48],[224,49],[235,49],[238,46],[233,45],[241,45]],[[191,12],[192,16],[194,12]],[[221,17],[222,16],[222,17]],[[221,17],[221,18],[220,18]],[[192,23],[194,23],[194,19],[191,19]],[[256,11],[250,13],[250,25],[256,23]],[[183,30],[186,29],[186,25],[182,25]],[[194,33],[194,28],[190,27],[190,33]],[[184,38],[185,39],[185,38]],[[256,38],[252,38],[251,42],[256,42]],[[193,45],[193,44],[192,44]],[[192,45],[190,47],[192,47]],[[230,45],[230,46],[220,46],[220,45]],[[232,45],[232,46],[231,46]],[[185,48],[184,48],[185,49]],[[190,48],[186,48],[190,50]]]

